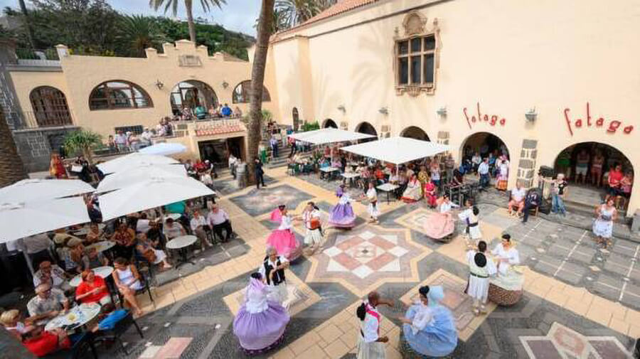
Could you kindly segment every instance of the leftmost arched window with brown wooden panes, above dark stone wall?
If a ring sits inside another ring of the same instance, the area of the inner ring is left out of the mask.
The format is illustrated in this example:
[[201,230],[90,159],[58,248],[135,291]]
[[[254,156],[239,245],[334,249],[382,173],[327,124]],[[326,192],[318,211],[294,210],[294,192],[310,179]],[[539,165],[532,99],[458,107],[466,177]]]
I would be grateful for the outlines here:
[[63,126],[71,124],[71,114],[67,105],[67,98],[62,91],[55,87],[36,87],[29,94],[33,117],[38,126]]

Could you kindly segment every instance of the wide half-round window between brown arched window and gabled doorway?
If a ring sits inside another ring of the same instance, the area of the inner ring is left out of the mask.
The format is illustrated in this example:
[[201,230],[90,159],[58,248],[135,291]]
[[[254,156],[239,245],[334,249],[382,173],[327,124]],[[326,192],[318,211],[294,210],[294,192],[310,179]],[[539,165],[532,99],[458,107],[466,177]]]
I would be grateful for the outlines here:
[[112,80],[97,85],[89,96],[89,108],[142,109],[154,107],[151,97],[142,87],[129,81]]

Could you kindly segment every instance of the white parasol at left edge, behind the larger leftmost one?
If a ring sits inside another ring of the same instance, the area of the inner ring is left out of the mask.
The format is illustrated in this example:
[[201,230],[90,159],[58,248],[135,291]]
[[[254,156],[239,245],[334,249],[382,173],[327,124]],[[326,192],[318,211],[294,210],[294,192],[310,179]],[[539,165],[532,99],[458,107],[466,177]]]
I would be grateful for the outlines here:
[[89,183],[80,180],[25,179],[0,188],[0,204],[50,200],[93,191]]

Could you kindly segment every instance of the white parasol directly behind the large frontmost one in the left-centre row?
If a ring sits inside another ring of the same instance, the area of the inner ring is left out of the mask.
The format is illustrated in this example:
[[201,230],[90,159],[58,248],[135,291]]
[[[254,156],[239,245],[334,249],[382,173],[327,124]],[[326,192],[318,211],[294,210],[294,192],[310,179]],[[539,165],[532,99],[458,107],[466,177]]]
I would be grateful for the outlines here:
[[118,171],[105,177],[97,186],[97,192],[103,193],[117,190],[132,183],[146,181],[149,178],[165,177],[186,177],[184,166],[175,164],[141,164],[139,166],[129,166],[127,171]]

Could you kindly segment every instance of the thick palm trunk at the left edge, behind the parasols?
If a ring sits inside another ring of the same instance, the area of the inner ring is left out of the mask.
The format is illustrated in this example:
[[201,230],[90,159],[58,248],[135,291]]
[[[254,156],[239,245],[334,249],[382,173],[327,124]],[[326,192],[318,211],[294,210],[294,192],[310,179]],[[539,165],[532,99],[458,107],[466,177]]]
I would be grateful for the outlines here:
[[14,136],[0,110],[0,187],[9,186],[27,177],[22,159],[18,156]]

